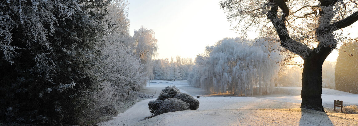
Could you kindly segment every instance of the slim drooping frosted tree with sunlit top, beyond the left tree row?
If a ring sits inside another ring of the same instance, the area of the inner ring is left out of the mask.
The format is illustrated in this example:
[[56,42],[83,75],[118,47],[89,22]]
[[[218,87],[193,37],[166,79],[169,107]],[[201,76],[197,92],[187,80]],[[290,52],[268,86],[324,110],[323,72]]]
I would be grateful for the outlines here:
[[144,71],[149,79],[153,79],[153,58],[157,53],[157,41],[153,30],[148,30],[141,26],[139,30],[134,30],[135,54],[140,57],[141,63],[144,64]]

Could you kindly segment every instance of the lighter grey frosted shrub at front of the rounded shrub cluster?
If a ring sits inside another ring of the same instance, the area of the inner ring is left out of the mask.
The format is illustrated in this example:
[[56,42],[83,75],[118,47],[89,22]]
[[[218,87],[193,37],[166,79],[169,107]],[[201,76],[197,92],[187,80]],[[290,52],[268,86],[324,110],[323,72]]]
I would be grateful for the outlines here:
[[163,100],[163,102],[160,104],[158,111],[156,112],[156,115],[160,115],[166,112],[184,111],[184,110],[190,110],[187,103],[185,103],[183,100],[180,99],[169,98]]

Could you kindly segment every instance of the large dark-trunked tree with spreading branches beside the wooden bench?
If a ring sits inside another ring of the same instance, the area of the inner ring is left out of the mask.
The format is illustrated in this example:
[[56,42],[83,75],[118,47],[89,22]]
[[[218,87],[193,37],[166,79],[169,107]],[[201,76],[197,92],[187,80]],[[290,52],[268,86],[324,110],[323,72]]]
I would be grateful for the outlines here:
[[245,32],[263,29],[282,47],[304,60],[301,108],[324,111],[322,65],[338,42],[346,38],[338,30],[358,20],[357,0],[224,0],[220,5],[227,18]]

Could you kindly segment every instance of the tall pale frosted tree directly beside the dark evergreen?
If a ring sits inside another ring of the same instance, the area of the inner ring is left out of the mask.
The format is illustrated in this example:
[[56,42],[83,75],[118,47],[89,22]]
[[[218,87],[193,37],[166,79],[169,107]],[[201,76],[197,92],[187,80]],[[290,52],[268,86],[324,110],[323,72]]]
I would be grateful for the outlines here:
[[109,23],[101,45],[101,61],[104,62],[101,77],[129,95],[130,90],[146,83],[147,77],[144,64],[134,53],[136,47],[129,35],[126,6],[123,0],[112,1],[108,6]]

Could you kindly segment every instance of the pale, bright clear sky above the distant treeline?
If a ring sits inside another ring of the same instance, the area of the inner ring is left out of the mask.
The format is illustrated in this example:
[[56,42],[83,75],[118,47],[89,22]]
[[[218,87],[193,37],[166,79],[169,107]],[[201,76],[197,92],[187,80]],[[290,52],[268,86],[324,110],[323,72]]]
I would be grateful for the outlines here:
[[[173,56],[195,59],[204,52],[207,45],[212,46],[225,37],[237,37],[239,34],[226,19],[219,6],[220,0],[129,0],[130,33],[141,26],[155,32],[158,40],[157,59]],[[351,36],[357,37],[356,22]],[[256,35],[246,36],[256,38]],[[337,51],[333,51],[327,60],[335,61]]]

